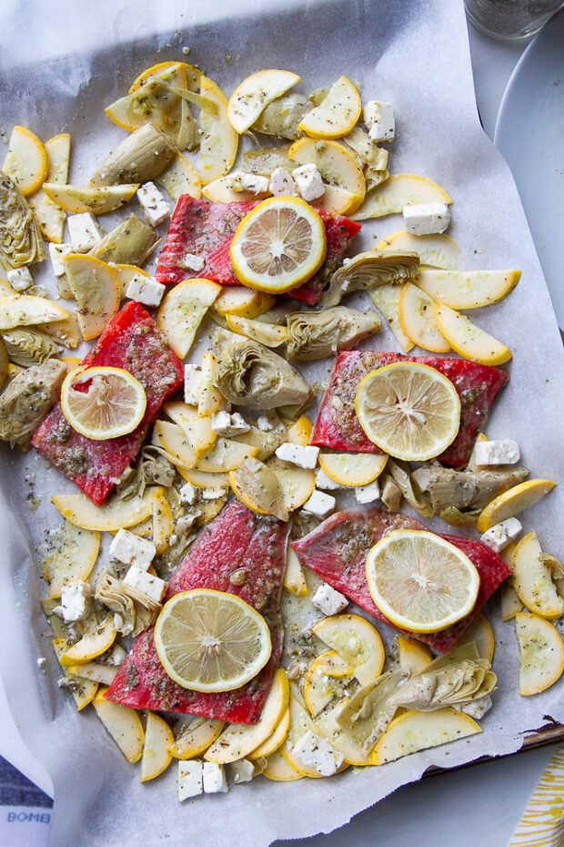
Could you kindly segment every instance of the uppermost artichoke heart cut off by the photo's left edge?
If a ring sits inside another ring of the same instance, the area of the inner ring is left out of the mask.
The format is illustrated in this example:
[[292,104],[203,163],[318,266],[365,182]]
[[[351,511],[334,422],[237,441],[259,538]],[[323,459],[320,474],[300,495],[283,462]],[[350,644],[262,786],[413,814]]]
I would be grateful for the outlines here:
[[44,259],[45,245],[29,203],[0,170],[0,268],[7,272]]

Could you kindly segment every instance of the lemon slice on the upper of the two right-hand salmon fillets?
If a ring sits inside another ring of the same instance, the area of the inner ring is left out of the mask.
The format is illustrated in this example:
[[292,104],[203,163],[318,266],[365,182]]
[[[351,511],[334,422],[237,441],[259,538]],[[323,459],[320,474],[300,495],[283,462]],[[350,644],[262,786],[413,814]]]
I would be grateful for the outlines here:
[[370,441],[408,462],[441,454],[460,425],[453,383],[418,362],[394,362],[369,372],[358,385],[355,408]]

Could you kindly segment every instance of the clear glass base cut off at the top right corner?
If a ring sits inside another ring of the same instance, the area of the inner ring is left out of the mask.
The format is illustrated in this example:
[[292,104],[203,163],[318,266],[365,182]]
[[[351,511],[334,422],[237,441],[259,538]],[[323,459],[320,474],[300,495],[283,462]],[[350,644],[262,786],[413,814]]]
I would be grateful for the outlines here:
[[562,0],[464,0],[468,20],[480,32],[503,41],[533,36],[555,12]]

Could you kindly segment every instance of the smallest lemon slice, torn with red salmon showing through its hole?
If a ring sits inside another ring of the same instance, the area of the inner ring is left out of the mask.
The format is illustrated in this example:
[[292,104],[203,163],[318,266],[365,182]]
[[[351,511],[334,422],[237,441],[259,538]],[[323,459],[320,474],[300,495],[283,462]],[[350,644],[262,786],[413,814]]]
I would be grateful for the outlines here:
[[76,432],[105,441],[131,433],[141,423],[146,393],[123,368],[76,368],[65,376],[61,406]]

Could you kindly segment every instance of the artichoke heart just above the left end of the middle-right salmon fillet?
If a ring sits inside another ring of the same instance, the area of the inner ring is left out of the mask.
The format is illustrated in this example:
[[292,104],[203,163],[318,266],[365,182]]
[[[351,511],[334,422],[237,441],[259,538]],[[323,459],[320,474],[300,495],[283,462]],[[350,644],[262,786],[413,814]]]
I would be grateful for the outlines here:
[[288,359],[324,359],[349,350],[382,323],[375,311],[335,306],[323,311],[296,311],[287,315]]

